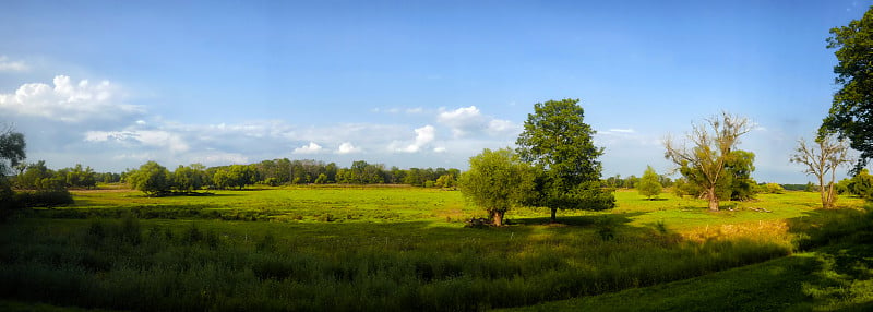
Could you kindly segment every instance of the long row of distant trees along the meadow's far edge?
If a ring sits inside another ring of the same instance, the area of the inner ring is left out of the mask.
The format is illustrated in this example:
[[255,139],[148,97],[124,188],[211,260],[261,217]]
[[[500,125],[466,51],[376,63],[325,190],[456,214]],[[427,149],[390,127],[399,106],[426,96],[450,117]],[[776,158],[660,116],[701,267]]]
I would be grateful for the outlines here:
[[243,189],[248,185],[283,185],[306,183],[380,184],[405,183],[417,187],[455,188],[458,169],[392,167],[357,160],[349,168],[316,160],[264,160],[251,165],[206,168],[200,164],[179,166],[174,171],[155,161],[121,175],[131,188],[147,195],[171,192],[190,193],[201,189]]

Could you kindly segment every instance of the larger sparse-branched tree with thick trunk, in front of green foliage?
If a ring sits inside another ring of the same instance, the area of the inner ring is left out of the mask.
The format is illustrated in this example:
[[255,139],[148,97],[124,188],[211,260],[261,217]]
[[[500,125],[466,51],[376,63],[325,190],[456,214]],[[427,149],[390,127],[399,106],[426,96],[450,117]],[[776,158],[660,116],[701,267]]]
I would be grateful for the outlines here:
[[704,189],[704,196],[709,201],[709,211],[717,212],[716,185],[725,178],[725,163],[731,148],[740,143],[740,136],[752,131],[752,122],[748,118],[722,111],[721,116],[714,116],[706,119],[705,123],[692,127],[693,130],[686,134],[686,139],[694,146],[687,148],[685,142],[678,145],[668,136],[665,140],[667,152],[663,157],[678,165],[689,181],[698,183]]

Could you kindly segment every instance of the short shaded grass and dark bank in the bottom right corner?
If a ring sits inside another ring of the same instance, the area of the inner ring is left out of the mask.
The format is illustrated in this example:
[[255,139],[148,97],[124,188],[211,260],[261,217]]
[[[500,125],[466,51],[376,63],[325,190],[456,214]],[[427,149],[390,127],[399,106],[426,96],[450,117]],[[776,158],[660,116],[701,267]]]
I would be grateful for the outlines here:
[[[504,311],[871,311],[873,215],[789,220],[808,252],[710,275]],[[633,300],[629,300],[633,298]]]

